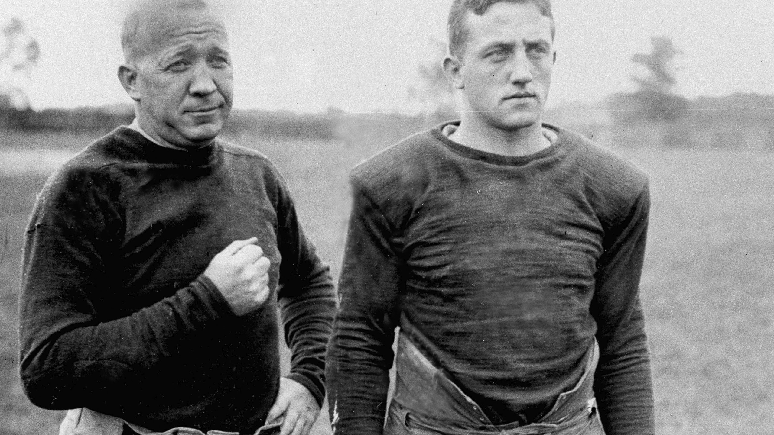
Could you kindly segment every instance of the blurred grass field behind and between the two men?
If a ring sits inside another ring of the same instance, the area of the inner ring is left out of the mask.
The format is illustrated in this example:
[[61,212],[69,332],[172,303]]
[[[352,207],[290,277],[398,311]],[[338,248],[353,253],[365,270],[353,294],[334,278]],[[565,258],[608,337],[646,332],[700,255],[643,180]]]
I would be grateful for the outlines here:
[[[2,133],[2,132],[0,132]],[[91,136],[0,134],[0,433],[53,434],[61,413],[37,409],[15,372],[23,228],[47,172]],[[282,170],[303,224],[338,273],[351,166],[392,138],[344,142],[229,138]],[[60,144],[64,144],[63,148]],[[35,149],[24,154],[19,149]],[[60,149],[59,154],[51,149]],[[659,433],[770,434],[774,427],[774,153],[618,150],[649,173],[652,214],[642,301]],[[2,233],[0,233],[2,237]],[[324,410],[325,412],[325,410]],[[316,433],[326,433],[320,419]]]

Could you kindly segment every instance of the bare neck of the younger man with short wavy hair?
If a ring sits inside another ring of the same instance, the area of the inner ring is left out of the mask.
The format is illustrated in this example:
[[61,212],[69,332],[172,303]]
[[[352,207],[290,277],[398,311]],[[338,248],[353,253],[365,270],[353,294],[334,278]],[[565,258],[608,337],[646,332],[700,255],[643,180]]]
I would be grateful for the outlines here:
[[460,126],[449,139],[464,146],[502,156],[529,156],[551,146],[551,142],[543,135],[543,122],[540,118],[529,127],[503,130],[491,125],[478,125],[463,116]]

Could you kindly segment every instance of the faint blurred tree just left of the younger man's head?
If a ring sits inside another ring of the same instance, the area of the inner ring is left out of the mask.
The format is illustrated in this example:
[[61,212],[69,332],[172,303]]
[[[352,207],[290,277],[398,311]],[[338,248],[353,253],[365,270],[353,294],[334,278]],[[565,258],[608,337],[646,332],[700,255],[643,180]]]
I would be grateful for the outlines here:
[[447,54],[446,43],[430,39],[433,55],[417,67],[420,84],[409,89],[409,101],[416,101],[426,118],[446,120],[457,118],[457,103],[454,100],[454,87],[446,79],[441,64]]

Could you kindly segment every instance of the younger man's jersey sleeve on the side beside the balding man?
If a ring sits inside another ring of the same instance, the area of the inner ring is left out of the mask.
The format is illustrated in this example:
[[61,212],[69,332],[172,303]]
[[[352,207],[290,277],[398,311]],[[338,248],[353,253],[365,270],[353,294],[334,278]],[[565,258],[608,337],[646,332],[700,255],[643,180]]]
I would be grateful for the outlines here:
[[394,229],[358,187],[328,347],[330,420],[337,434],[381,434],[402,265]]

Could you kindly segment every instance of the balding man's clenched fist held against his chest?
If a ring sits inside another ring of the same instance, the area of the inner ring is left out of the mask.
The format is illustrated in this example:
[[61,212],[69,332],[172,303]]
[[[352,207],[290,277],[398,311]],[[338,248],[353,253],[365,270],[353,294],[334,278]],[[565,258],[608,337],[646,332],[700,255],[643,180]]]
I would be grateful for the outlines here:
[[253,237],[231,242],[204,271],[237,316],[252,312],[269,298],[271,262],[256,241]]

